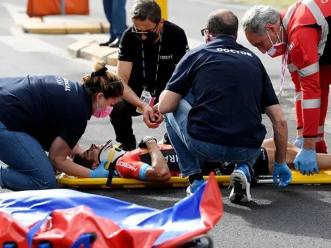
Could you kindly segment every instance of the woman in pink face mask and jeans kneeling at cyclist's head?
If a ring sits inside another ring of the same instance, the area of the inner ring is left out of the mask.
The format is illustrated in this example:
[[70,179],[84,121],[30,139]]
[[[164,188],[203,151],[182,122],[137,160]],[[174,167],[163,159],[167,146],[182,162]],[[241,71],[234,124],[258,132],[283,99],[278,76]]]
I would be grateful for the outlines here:
[[[82,83],[56,75],[0,77],[0,187],[46,190],[56,186],[54,167],[82,178],[103,178],[104,168],[90,170],[68,157],[92,117],[108,116],[123,84],[96,63]],[[49,152],[49,156],[45,153]]]

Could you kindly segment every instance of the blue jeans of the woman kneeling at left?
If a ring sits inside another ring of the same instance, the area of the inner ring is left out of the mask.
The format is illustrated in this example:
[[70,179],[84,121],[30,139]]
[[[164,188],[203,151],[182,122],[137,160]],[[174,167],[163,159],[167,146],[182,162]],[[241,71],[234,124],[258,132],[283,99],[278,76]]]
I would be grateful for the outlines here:
[[12,132],[0,122],[0,184],[9,190],[56,187],[54,167],[41,144],[25,132]]

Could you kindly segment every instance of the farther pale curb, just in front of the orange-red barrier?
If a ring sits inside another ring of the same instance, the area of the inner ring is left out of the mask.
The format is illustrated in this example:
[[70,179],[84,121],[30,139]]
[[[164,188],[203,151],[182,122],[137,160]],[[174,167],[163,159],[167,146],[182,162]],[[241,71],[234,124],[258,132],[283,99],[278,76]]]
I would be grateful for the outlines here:
[[23,31],[43,35],[73,35],[82,33],[108,33],[110,25],[106,21],[44,22],[43,18],[29,18],[22,25]]

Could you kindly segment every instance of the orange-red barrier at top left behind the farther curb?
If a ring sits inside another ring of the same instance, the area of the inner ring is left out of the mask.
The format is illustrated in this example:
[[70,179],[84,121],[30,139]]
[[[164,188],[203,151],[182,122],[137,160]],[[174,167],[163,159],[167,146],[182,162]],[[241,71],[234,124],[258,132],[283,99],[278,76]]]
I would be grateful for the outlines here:
[[[39,17],[61,14],[61,0],[28,0],[27,16]],[[66,15],[89,15],[89,0],[65,0]]]

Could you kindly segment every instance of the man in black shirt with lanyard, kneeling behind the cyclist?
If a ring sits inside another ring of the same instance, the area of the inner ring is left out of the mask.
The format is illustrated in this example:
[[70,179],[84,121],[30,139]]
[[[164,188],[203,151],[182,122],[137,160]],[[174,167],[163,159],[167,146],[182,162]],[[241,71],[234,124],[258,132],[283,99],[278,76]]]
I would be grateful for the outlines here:
[[189,51],[184,30],[162,19],[155,1],[135,1],[130,15],[133,25],[125,30],[118,51],[118,75],[125,89],[110,115],[116,141],[125,151],[136,148],[132,116],[142,114],[149,128],[163,121],[157,111],[158,97]]

